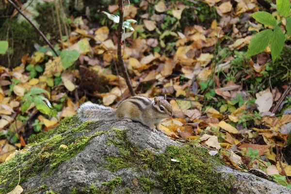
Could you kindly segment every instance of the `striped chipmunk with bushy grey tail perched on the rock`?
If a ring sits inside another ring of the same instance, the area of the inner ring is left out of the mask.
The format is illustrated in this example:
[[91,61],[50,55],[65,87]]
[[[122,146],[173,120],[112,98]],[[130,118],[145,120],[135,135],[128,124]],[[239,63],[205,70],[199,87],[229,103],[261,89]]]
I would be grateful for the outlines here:
[[144,96],[129,97],[122,101],[117,109],[98,104],[82,104],[78,109],[81,121],[86,120],[132,120],[142,123],[150,129],[157,130],[162,120],[173,116],[172,106],[166,100],[166,96],[154,97],[151,100]]

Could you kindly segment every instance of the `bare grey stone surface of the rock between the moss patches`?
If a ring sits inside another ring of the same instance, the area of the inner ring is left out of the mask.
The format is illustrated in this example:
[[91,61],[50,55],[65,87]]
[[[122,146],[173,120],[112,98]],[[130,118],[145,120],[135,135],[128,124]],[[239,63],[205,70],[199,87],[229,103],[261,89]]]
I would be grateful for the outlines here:
[[[91,139],[80,153],[61,164],[52,176],[44,178],[42,175],[38,175],[23,182],[21,186],[24,191],[32,191],[41,185],[47,184],[47,191],[53,190],[54,192],[67,194],[72,188],[76,188],[79,193],[82,193],[81,191],[85,186],[90,186],[94,183],[95,186],[102,189],[105,187],[102,182],[108,182],[119,176],[122,178],[122,182],[114,189],[114,194],[124,193],[125,188],[129,188],[132,194],[143,194],[145,192],[137,183],[136,177],[146,176],[150,180],[156,180],[157,172],[150,169],[137,172],[132,168],[123,168],[112,172],[104,167],[107,156],[120,156],[119,148],[108,145],[108,138],[113,138],[116,135],[112,129],[129,129],[127,137],[130,142],[140,149],[151,149],[156,153],[163,152],[166,146],[178,145],[178,143],[162,133],[155,133],[150,129],[146,129],[140,123],[113,121],[108,123],[98,122],[92,125],[96,126],[95,129],[85,135],[94,134],[101,130],[110,130],[112,132]],[[291,194],[290,189],[255,175],[240,172],[226,166],[218,166],[217,169],[225,175],[234,175],[235,183],[232,191],[237,194]],[[162,194],[161,185],[156,185],[151,190],[151,193]]]

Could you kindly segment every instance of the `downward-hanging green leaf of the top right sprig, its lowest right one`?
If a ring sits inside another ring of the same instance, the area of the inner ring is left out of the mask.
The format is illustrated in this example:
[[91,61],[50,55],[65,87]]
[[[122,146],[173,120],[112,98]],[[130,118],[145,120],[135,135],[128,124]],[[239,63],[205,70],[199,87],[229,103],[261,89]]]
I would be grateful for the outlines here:
[[272,41],[271,41],[270,49],[271,49],[272,58],[275,61],[276,58],[280,56],[280,53],[283,50],[283,47],[285,45],[285,35],[279,26],[275,26],[273,30],[274,31],[272,34]]

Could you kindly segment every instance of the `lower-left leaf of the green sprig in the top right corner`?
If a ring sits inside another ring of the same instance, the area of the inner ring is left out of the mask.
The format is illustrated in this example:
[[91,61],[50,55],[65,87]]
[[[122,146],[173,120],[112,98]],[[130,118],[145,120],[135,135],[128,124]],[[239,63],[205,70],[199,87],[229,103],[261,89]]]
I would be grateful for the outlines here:
[[247,56],[253,56],[264,51],[264,49],[266,49],[270,44],[271,37],[272,37],[271,29],[261,31],[254,35],[254,37],[250,41]]

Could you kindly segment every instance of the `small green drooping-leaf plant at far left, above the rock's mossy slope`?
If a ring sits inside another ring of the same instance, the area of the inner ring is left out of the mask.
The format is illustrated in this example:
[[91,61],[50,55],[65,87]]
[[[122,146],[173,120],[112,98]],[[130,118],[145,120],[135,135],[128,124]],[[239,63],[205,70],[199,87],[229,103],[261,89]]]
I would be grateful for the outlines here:
[[36,87],[32,88],[30,92],[27,92],[22,98],[23,102],[23,104],[21,105],[22,114],[25,113],[26,110],[30,107],[31,103],[34,102],[36,109],[39,110],[41,113],[55,117],[57,115],[57,112],[51,109],[51,104],[48,98],[40,95],[43,93],[50,96],[48,91]]

